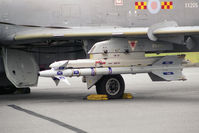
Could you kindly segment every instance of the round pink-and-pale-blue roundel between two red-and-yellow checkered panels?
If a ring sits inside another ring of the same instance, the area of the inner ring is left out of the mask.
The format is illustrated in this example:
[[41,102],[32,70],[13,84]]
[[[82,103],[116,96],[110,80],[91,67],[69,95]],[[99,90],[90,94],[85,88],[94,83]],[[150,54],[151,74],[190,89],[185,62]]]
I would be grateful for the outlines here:
[[149,0],[147,8],[150,13],[156,14],[161,9],[161,4],[159,0]]

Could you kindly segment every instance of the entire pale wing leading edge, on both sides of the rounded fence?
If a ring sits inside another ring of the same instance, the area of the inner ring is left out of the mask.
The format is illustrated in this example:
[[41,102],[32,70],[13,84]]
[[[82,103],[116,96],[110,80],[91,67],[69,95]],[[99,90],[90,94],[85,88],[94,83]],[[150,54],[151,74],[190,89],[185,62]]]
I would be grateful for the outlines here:
[[[148,27],[75,27],[75,28],[35,28],[10,36],[11,40],[69,39],[93,37],[147,37]],[[199,26],[164,27],[153,30],[155,36],[199,35]]]

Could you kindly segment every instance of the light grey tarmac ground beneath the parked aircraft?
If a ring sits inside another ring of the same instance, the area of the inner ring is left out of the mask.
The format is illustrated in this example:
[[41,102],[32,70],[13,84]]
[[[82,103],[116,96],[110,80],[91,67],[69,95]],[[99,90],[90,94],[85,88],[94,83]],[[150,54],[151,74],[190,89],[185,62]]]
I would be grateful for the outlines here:
[[0,96],[0,133],[198,133],[199,68],[183,73],[187,81],[123,75],[134,98],[103,101],[85,100],[95,87],[81,78],[58,87],[40,78],[31,94]]

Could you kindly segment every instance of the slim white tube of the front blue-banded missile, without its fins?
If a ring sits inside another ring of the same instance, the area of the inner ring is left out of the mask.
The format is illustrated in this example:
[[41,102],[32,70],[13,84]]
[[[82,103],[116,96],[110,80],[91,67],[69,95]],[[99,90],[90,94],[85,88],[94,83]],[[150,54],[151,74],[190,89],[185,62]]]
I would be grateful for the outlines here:
[[179,69],[179,67],[108,67],[108,68],[81,68],[81,69],[65,69],[65,70],[45,70],[39,74],[41,77],[79,77],[79,76],[96,76],[96,75],[114,75],[114,74],[136,74],[136,73],[150,73],[157,70]]

